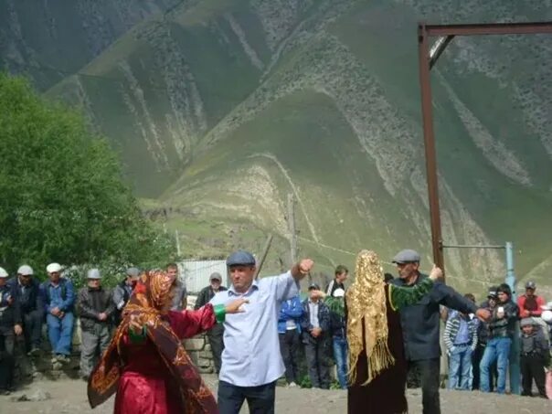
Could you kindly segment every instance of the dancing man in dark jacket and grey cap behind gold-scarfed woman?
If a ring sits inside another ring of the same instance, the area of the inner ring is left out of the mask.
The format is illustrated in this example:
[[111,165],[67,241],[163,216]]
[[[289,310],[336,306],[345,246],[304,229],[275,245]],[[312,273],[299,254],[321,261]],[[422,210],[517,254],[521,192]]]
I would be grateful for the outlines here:
[[[419,272],[419,253],[412,249],[398,252],[393,258],[397,264],[398,286],[414,286],[428,276]],[[423,414],[441,413],[439,385],[441,371],[440,305],[462,312],[475,313],[488,319],[490,313],[477,306],[451,287],[436,282],[431,292],[414,305],[400,310],[405,356],[409,369],[417,369],[421,380]]]

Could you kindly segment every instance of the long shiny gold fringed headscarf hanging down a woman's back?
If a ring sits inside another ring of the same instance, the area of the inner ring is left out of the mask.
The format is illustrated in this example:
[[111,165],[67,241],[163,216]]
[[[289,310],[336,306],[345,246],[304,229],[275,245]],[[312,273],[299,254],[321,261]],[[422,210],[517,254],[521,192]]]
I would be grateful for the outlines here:
[[[383,269],[373,251],[362,250],[356,257],[355,282],[346,292],[347,342],[349,345],[349,381],[356,382],[356,363],[365,349],[368,360],[368,384],[395,358],[387,347],[386,284]],[[364,341],[363,341],[364,326]]]

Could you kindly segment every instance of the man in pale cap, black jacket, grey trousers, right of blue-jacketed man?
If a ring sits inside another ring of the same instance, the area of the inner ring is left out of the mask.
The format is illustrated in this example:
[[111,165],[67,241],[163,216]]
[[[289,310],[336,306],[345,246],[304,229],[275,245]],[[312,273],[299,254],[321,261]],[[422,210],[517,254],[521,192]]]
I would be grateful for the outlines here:
[[79,291],[77,310],[80,316],[81,337],[80,376],[88,380],[96,356],[101,355],[110,344],[109,322],[115,304],[111,292],[101,287],[101,274],[98,269],[90,269],[86,278],[87,286]]

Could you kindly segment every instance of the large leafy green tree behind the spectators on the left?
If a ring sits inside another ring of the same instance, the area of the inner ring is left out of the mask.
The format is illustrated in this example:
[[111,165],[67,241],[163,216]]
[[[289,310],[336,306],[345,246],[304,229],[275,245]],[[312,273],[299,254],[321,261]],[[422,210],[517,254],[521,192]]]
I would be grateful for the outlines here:
[[165,235],[143,218],[116,154],[84,117],[0,73],[0,262],[159,264]]

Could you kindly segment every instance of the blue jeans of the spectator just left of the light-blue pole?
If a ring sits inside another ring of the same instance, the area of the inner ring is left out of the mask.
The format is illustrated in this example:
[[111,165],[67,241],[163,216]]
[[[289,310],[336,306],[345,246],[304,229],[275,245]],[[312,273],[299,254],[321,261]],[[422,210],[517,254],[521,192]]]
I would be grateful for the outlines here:
[[506,369],[508,368],[508,356],[510,355],[510,338],[493,338],[487,342],[485,353],[479,365],[480,371],[480,389],[483,392],[490,392],[489,387],[489,368],[496,361],[498,377],[496,379],[496,392],[504,394],[506,390]]

